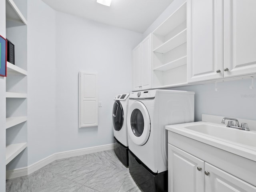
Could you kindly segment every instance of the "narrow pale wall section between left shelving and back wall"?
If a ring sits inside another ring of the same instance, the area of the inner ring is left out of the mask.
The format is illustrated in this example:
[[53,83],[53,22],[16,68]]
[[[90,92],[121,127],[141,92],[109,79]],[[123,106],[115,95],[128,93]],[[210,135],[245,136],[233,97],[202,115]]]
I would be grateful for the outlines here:
[[28,0],[28,165],[56,152],[55,11]]

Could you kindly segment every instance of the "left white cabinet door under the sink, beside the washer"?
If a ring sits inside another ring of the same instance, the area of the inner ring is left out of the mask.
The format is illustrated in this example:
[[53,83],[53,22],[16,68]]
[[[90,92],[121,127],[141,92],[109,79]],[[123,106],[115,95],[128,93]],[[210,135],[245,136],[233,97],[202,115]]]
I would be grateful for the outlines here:
[[170,144],[168,192],[204,192],[204,161]]

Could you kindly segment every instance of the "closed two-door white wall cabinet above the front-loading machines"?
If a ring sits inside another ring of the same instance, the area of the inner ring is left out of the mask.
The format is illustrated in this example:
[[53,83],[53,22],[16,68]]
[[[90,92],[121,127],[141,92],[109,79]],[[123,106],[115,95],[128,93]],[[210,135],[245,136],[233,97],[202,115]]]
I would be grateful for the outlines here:
[[152,88],[152,35],[132,50],[132,91]]

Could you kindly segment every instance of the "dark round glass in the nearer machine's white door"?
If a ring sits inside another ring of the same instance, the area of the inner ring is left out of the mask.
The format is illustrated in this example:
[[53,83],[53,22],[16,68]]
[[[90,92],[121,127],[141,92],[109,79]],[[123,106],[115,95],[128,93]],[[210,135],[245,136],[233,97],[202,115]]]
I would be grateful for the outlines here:
[[144,118],[140,110],[134,109],[131,115],[131,128],[136,137],[140,137],[144,130]]

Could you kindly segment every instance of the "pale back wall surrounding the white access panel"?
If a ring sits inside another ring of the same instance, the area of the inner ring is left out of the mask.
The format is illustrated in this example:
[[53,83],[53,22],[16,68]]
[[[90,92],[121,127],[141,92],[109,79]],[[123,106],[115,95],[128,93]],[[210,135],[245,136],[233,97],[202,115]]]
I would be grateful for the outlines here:
[[[56,13],[58,151],[113,143],[113,99],[131,92],[132,49],[141,40],[136,32]],[[80,70],[98,73],[98,127],[78,128]]]

